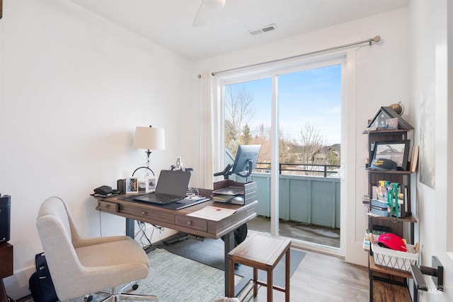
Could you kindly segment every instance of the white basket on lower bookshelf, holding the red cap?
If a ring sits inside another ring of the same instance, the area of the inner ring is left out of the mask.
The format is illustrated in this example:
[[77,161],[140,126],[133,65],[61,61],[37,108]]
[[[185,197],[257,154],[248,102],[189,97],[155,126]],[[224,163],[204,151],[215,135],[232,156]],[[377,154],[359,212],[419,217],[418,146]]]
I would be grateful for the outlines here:
[[377,243],[373,243],[371,247],[375,265],[390,267],[401,272],[411,272],[411,265],[417,264],[418,252],[415,252],[411,244],[406,244],[407,252],[382,248]]

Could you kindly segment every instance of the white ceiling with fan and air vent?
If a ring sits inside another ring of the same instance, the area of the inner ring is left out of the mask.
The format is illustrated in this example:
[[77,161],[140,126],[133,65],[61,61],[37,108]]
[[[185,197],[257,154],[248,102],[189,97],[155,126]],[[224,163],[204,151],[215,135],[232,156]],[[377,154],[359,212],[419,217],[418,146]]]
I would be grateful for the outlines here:
[[[202,0],[71,0],[190,61],[408,6],[409,0],[226,0],[203,26]],[[205,0],[206,1],[206,0]],[[275,24],[258,35],[250,30]]]

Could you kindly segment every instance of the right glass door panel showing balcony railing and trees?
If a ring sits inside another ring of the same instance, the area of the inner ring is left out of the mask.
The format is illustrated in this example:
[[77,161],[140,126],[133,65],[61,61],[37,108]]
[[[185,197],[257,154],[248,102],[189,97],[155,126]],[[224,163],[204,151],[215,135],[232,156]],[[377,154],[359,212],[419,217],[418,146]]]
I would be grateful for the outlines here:
[[340,248],[341,64],[282,74],[280,236]]

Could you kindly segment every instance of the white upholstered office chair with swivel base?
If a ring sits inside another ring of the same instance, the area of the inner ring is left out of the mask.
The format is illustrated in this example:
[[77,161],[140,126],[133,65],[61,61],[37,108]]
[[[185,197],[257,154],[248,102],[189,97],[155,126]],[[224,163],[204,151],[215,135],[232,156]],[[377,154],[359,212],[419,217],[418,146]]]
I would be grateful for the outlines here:
[[120,288],[149,273],[147,254],[132,238],[81,238],[59,197],[42,203],[36,226],[60,301],[105,289],[111,291],[103,301],[156,300],[156,296],[122,293],[125,286]]

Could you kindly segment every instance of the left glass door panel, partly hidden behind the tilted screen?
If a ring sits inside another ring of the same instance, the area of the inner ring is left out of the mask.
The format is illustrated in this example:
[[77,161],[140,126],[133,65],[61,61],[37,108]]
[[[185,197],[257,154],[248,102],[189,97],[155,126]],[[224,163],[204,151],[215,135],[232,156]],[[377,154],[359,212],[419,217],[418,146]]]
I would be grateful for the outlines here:
[[263,233],[270,233],[271,88],[270,78],[224,86],[225,165],[234,162],[240,144],[261,145],[253,174],[247,179],[231,175],[230,179],[256,182],[258,217],[248,223],[248,228]]

